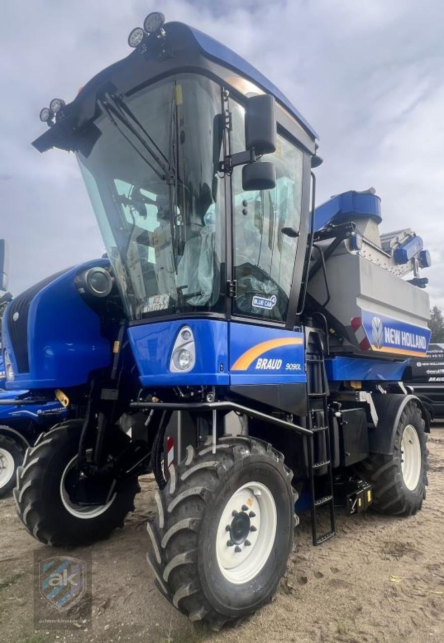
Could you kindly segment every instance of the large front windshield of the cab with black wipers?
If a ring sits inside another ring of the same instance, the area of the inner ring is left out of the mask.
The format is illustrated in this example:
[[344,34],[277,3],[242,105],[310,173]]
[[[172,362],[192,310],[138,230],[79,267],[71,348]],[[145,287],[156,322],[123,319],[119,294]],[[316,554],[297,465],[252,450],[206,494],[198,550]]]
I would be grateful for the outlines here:
[[78,160],[130,320],[222,311],[220,87],[178,75],[99,105]]

